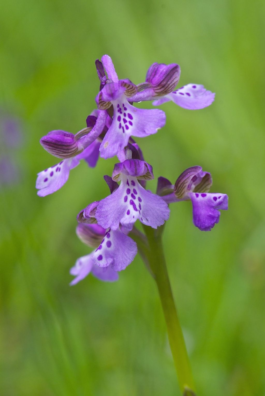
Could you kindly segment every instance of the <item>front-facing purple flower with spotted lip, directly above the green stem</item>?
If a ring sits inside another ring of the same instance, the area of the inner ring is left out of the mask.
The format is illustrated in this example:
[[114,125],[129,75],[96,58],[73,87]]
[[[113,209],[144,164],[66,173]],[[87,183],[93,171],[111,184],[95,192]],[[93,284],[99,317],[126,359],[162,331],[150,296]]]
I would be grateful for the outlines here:
[[138,180],[154,178],[152,166],[145,161],[128,159],[114,166],[112,180],[120,181],[119,187],[99,202],[95,218],[101,227],[112,230],[121,224],[131,230],[137,219],[157,228],[169,218],[164,200],[145,190]]

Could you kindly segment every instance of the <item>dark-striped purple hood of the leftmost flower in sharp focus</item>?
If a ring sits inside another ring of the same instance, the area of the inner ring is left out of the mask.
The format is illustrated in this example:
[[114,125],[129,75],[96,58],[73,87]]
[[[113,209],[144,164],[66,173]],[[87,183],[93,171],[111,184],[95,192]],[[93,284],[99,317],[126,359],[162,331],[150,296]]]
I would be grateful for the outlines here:
[[71,158],[76,156],[80,150],[74,135],[65,131],[51,131],[40,139],[40,144],[50,154],[58,158]]

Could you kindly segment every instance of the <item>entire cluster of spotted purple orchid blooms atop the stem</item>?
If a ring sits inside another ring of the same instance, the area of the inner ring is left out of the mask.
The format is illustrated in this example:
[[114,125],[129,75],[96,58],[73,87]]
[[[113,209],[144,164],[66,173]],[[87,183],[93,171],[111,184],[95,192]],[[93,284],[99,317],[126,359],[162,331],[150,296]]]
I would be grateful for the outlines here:
[[[109,55],[95,62],[100,90],[95,101],[97,110],[86,119],[86,128],[75,135],[66,131],[51,131],[42,137],[41,145],[61,161],[38,173],[36,188],[39,196],[52,194],[69,178],[70,170],[80,160],[95,167],[102,158],[118,157],[112,177],[104,176],[110,195],[89,204],[77,215],[76,234],[94,250],[80,257],[71,274],[76,284],[90,272],[105,281],[118,279],[137,253],[137,244],[130,238],[137,219],[144,225],[157,228],[169,218],[168,204],[191,200],[193,222],[200,230],[209,231],[218,223],[219,209],[227,209],[226,194],[209,194],[210,173],[200,166],[186,169],[172,185],[158,178],[157,193],[146,189],[154,179],[153,168],[145,162],[143,153],[132,137],[156,133],[166,123],[164,111],[138,109],[139,101],[160,105],[173,101],[184,109],[196,110],[209,106],[215,94],[202,85],[187,84],[174,91],[179,81],[180,67],[154,63],[147,71],[145,82],[135,85],[119,80]],[[118,184],[117,182],[120,182]]]

